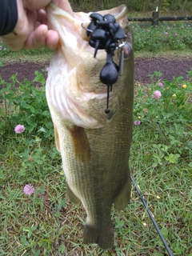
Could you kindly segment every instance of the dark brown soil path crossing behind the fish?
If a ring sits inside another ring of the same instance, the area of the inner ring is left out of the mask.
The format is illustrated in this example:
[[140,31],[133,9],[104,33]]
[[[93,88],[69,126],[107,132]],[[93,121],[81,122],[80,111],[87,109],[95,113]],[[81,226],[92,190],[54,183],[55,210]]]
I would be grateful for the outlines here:
[[[17,62],[7,64],[0,66],[0,76],[6,82],[9,82],[10,76],[18,73],[18,82],[22,82],[24,78],[31,81],[35,76],[34,71],[42,72],[46,66],[49,66],[49,62]],[[187,71],[191,69],[192,58],[135,58],[134,78],[137,83],[146,84],[150,82],[149,74],[153,74],[154,71],[161,71],[162,80],[172,81],[174,76],[182,76],[187,79]]]

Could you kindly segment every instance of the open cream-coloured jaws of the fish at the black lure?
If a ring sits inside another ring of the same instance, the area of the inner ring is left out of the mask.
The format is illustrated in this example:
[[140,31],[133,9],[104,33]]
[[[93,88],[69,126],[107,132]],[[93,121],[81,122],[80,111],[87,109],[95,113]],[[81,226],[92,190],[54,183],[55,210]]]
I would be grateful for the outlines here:
[[[82,47],[84,48],[85,45],[87,46],[86,50],[94,52],[93,48],[91,48],[87,43],[89,41],[89,37],[87,37],[85,30],[85,28],[87,28],[87,26],[89,26],[90,24],[90,14],[92,14],[92,12],[87,14],[82,12],[74,13],[72,10],[70,12],[67,12],[66,10],[60,8],[59,6],[56,6],[54,2],[50,2],[50,4],[46,7],[46,12],[49,19],[50,29],[57,30],[58,34],[61,35],[60,42],[62,46],[69,47],[68,42],[70,41],[72,44],[71,46],[74,47],[74,50],[77,49],[77,46],[78,49],[81,48],[80,45],[82,44]],[[98,11],[98,14],[113,15],[116,22],[118,22],[122,29],[126,26],[127,13],[127,8],[124,4],[118,7],[114,7],[110,10]],[[60,21],[61,17],[63,20],[62,23]],[[69,38],[71,38],[71,40],[69,40]],[[73,41],[75,43],[73,43]]]

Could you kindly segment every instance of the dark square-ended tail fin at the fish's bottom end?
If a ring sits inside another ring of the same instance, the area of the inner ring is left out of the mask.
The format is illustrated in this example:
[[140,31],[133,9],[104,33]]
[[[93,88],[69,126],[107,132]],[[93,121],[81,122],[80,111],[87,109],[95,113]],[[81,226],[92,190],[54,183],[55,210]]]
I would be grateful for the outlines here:
[[97,243],[102,250],[110,249],[114,246],[114,226],[112,222],[105,228],[97,226],[85,225],[84,239],[85,244]]

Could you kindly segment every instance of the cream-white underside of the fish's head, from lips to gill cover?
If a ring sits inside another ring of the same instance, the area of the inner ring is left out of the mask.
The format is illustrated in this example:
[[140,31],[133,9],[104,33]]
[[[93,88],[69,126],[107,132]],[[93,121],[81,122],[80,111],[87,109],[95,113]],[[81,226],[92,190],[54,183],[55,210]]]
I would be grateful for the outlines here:
[[[100,128],[111,121],[118,108],[118,96],[111,92],[114,103],[110,105],[111,113],[106,114],[106,86],[99,80],[106,62],[106,50],[98,50],[94,58],[94,48],[89,45],[86,30],[82,28],[82,23],[84,27],[89,25],[91,13],[70,10],[63,10],[53,2],[46,7],[49,27],[58,31],[60,38],[60,46],[50,63],[47,99],[66,121],[86,129]],[[98,13],[112,14],[122,28],[126,27],[125,5]]]

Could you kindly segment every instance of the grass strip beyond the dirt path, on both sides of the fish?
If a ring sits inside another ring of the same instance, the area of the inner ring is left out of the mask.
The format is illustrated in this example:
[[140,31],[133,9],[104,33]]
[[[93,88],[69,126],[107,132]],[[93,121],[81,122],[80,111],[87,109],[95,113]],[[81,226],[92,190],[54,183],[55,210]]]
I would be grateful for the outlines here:
[[[162,22],[158,27],[130,22],[134,32],[135,57],[192,57],[192,22]],[[52,51],[19,50],[14,52],[0,42],[0,66],[10,62],[49,62]]]

